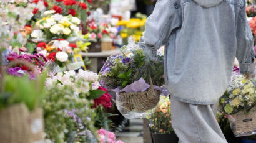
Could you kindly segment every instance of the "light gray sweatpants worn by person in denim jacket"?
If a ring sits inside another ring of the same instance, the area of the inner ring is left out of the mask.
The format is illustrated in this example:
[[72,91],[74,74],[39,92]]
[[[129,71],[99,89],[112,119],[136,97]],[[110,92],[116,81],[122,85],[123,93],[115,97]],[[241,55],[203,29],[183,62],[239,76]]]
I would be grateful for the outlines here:
[[215,118],[217,104],[187,104],[172,98],[171,113],[179,143],[227,142]]

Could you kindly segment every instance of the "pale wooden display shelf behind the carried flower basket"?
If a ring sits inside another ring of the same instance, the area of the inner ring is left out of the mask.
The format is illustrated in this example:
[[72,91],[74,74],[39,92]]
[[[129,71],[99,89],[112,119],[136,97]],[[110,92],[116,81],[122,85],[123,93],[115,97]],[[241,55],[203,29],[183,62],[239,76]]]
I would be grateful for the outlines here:
[[107,58],[111,55],[118,55],[121,54],[120,49],[116,50],[106,50],[102,52],[89,52],[89,53],[84,53],[82,52],[81,55],[82,57],[89,57],[89,59],[92,61],[91,64],[88,66],[88,70],[93,71],[97,73],[97,67],[99,67],[99,58]]

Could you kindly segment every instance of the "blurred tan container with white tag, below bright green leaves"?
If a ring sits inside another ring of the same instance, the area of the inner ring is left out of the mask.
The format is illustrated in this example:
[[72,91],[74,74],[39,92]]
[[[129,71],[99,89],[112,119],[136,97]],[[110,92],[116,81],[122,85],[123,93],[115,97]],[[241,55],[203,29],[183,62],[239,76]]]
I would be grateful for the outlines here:
[[15,104],[0,110],[0,142],[30,143],[43,141],[43,111],[29,112],[25,104]]

